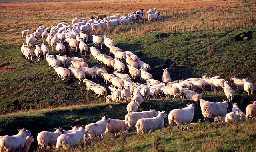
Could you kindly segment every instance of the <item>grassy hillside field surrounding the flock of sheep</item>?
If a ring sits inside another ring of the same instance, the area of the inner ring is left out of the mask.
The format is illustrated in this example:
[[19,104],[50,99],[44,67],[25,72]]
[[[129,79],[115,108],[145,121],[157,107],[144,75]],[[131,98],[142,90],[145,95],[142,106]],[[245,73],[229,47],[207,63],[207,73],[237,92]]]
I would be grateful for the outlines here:
[[[40,131],[53,131],[56,127],[69,129],[70,125],[86,125],[104,114],[124,119],[127,103],[111,103],[113,108],[110,108],[102,97],[94,96],[91,91],[86,93],[85,84],[78,84],[74,76],[63,81],[42,58],[37,61],[34,57],[29,62],[22,57],[22,30],[34,32],[39,25],[48,27],[62,21],[71,22],[74,16],[125,15],[140,8],[157,8],[160,12],[157,22],[149,23],[144,18],[127,26],[90,31],[88,35],[108,34],[117,47],[134,52],[150,64],[150,73],[156,80],[162,80],[162,69],[168,68],[172,80],[218,75],[235,88],[230,76],[236,75],[250,79],[255,86],[256,2],[253,0],[0,2],[0,135],[15,134],[16,128],[26,127],[36,136]],[[243,32],[249,33],[249,40],[237,38]],[[91,37],[89,39],[88,47],[92,46]],[[36,42],[41,43],[42,39]],[[52,49],[50,53],[57,54]],[[103,49],[101,53],[109,51]],[[71,52],[70,56],[84,58],[89,67],[100,66],[90,51],[86,55]],[[112,69],[106,70],[112,72]],[[96,82],[103,85],[101,79]],[[226,99],[220,92],[207,92],[203,97],[209,101]],[[186,99],[162,100],[142,103],[140,111],[155,108],[170,112],[190,102]],[[248,97],[242,90],[235,90],[233,102],[238,102],[242,111],[254,100],[255,96]],[[198,119],[202,119],[202,114],[196,107],[193,122]],[[175,128],[173,135],[166,128],[164,136],[154,138],[150,133],[144,136],[121,134],[117,138],[107,136],[82,151],[255,151],[254,123],[202,125],[199,121],[184,133],[177,133]],[[36,146],[34,143],[32,149]]]

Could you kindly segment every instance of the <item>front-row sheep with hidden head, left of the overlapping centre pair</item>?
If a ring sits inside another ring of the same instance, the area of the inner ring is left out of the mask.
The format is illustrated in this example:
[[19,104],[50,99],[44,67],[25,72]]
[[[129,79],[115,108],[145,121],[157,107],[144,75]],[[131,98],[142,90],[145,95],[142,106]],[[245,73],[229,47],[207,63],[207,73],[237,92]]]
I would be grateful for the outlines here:
[[125,122],[124,120],[119,119],[110,119],[106,126],[105,133],[115,133],[117,135],[118,133],[121,133],[125,129]]

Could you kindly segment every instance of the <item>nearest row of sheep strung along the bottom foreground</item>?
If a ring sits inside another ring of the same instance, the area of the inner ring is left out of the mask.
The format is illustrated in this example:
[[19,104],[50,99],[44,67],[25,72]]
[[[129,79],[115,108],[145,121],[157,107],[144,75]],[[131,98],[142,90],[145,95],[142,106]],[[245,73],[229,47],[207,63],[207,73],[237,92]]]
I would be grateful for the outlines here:
[[[168,116],[168,121],[170,125],[170,133],[173,133],[172,126],[177,125],[179,131],[180,125],[185,124],[183,131],[188,129],[188,124],[192,122],[194,117],[194,103],[187,104],[187,107],[182,109],[173,109],[167,115],[166,111],[158,112],[155,109],[150,109],[150,111],[142,112],[131,112],[125,115],[124,120],[110,119],[108,116],[102,117],[101,120],[90,123],[86,126],[74,126],[71,130],[64,130],[62,128],[56,128],[56,131],[42,131],[37,135],[38,150],[50,150],[50,148],[56,147],[67,149],[76,148],[79,145],[86,143],[87,145],[91,143],[92,140],[101,140],[104,138],[106,133],[112,133],[114,135],[121,133],[126,129],[128,133],[129,129],[135,131],[136,127],[137,133],[154,132],[160,130],[162,134],[162,129],[164,127],[164,118]],[[200,100],[200,106],[202,114],[205,119],[210,117],[223,117],[225,116],[225,121],[242,121],[249,117],[253,119],[256,118],[256,101],[249,104],[246,107],[246,115],[237,107],[236,104],[230,104],[229,101],[223,101],[222,103],[212,103]],[[228,109],[232,109],[230,113],[227,113]],[[22,151],[28,152],[30,145],[34,142],[33,136],[30,131],[26,129],[19,130],[17,135],[13,136],[0,136],[0,151]]]

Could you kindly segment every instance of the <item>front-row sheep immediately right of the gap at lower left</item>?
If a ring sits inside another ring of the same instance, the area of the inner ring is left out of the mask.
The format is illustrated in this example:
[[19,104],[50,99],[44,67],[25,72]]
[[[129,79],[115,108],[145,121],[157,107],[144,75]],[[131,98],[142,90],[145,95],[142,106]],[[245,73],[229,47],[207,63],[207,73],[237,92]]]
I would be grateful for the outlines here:
[[37,142],[38,142],[38,151],[42,151],[46,149],[47,146],[53,146],[57,142],[58,136],[63,134],[64,131],[62,128],[56,129],[56,131],[49,132],[49,131],[42,131],[37,135]]

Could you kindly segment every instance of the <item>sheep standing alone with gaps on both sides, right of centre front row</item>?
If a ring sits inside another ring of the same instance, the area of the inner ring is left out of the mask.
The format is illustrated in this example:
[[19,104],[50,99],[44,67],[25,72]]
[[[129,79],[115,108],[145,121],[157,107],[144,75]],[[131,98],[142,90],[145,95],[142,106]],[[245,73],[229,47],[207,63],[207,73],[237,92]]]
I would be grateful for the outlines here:
[[188,123],[190,123],[193,120],[194,117],[194,110],[195,110],[195,105],[194,103],[192,104],[187,104],[187,107],[182,108],[182,109],[173,109],[170,111],[168,115],[168,120],[170,124],[170,130],[172,134],[172,126],[174,123],[177,124],[177,127],[180,130],[180,125],[186,124],[184,127],[183,131],[187,128],[188,129]]

